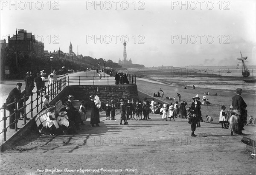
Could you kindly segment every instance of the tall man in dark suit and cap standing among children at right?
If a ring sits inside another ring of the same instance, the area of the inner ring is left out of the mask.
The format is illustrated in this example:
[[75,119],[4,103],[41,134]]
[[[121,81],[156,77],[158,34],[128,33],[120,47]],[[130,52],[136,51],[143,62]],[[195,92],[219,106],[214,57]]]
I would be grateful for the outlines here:
[[232,106],[233,110],[238,110],[240,112],[240,121],[239,121],[239,131],[237,134],[243,134],[243,123],[244,123],[244,114],[245,114],[245,108],[247,107],[247,104],[244,102],[244,99],[241,97],[242,89],[237,88],[236,89],[236,95],[232,98]]

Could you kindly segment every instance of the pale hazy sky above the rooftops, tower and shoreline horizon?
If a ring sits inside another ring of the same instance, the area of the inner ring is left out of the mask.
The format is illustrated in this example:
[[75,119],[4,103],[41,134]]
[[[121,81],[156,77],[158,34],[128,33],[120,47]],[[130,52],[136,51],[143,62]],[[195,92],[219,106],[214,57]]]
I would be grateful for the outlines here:
[[0,1],[1,40],[32,32],[44,50],[152,66],[256,65],[255,0]]

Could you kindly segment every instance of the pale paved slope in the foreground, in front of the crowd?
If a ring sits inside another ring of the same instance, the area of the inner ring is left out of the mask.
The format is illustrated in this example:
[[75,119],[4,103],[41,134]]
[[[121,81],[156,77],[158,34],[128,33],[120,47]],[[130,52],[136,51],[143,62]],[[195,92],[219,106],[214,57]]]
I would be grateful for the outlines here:
[[[117,120],[112,121],[100,112],[100,127],[91,127],[88,119],[79,134],[25,138],[27,144],[1,152],[1,175],[256,173],[255,158],[241,142],[242,135],[230,136],[220,124],[201,123],[198,136],[191,137],[186,119],[164,121],[161,115],[150,114],[148,121],[120,125],[116,113]],[[254,130],[245,126],[244,133]]]

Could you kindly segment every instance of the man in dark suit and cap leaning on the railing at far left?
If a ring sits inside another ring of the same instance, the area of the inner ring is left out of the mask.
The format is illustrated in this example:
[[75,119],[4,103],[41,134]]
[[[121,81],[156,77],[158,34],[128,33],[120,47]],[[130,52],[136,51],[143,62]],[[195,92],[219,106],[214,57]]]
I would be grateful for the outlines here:
[[[12,89],[11,92],[9,93],[9,95],[6,99],[6,104],[10,104],[12,102],[20,100],[20,98],[21,98],[21,90],[20,90],[21,86],[22,86],[21,83],[16,84],[16,88]],[[9,110],[9,112],[10,112],[9,124],[11,124],[15,121],[15,115],[12,115],[15,111],[15,104],[12,104],[12,105],[6,107],[6,110]],[[15,124],[11,124],[10,129],[15,129]],[[19,129],[19,128],[17,128],[17,129]]]

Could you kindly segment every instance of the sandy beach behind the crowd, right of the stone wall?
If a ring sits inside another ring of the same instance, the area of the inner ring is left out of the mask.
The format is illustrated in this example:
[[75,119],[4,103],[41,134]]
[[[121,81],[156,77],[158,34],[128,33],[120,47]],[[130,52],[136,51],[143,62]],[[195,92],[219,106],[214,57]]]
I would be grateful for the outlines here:
[[[174,101],[166,100],[166,97],[170,96],[171,98],[173,98],[174,96],[175,97],[177,96],[177,93],[180,93],[181,100],[187,102],[186,107],[190,107],[192,104],[192,97],[194,97],[198,94],[198,96],[201,98],[200,101],[202,102],[202,99],[203,99],[202,97],[206,96],[206,99],[209,99],[209,102],[211,103],[211,105],[210,106],[206,106],[206,105],[201,106],[202,117],[205,121],[206,115],[212,116],[213,123],[217,124],[217,123],[219,123],[219,114],[221,111],[221,106],[225,105],[226,111],[227,111],[232,103],[232,97],[234,95],[236,95],[236,88],[243,89],[243,87],[241,87],[240,85],[236,85],[236,82],[234,82],[234,84],[228,84],[225,81],[221,82],[220,81],[221,79],[219,79],[219,78],[218,78],[219,85],[215,85],[214,81],[216,79],[217,78],[213,78],[213,79],[208,78],[208,81],[207,81],[206,77],[204,79],[201,77],[198,77],[198,78],[195,78],[195,77],[178,78],[178,77],[176,77],[173,79],[160,79],[159,81],[156,81],[154,79],[137,78],[136,84],[137,84],[139,91],[150,95],[147,97],[148,100],[150,100],[150,101],[151,101],[150,98],[154,98],[153,93],[157,94],[157,91],[159,91],[160,88],[163,89],[164,96],[155,98],[156,102],[162,100],[161,102],[174,103]],[[206,82],[205,88],[198,85],[204,81]],[[191,82],[193,82],[193,84]],[[186,85],[187,89],[184,89],[185,85]],[[188,86],[188,85],[190,85],[190,86]],[[193,85],[195,85],[195,89],[192,88]],[[227,86],[227,85],[229,85],[229,87],[225,88],[225,86]],[[208,92],[208,91],[209,91],[210,95],[204,95],[204,92]],[[215,96],[215,93],[217,93],[220,96]],[[144,94],[144,96],[146,96],[145,94]],[[143,94],[141,94],[140,96],[143,96]],[[248,111],[247,121],[249,120],[249,116],[253,116],[253,118],[255,119],[256,118],[255,91],[243,89],[241,96],[243,97],[244,101],[247,104],[247,111]],[[176,97],[176,100],[178,100],[177,97]],[[180,104],[180,102],[178,104]],[[159,117],[161,117],[161,116],[159,115]]]

